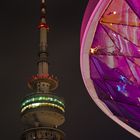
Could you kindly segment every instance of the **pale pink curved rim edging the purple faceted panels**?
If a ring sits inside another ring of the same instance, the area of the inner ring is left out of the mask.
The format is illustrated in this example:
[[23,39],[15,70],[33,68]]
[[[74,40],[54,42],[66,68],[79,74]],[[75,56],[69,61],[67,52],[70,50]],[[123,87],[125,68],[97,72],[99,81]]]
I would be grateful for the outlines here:
[[89,63],[90,48],[96,32],[96,28],[98,26],[98,21],[100,20],[101,16],[105,12],[105,9],[109,6],[112,0],[99,0],[95,9],[93,9],[93,6],[91,5],[93,1],[94,0],[89,1],[81,27],[80,66],[84,84],[91,98],[108,117],[110,117],[113,121],[115,121],[117,124],[125,128],[127,131],[129,131],[136,137],[140,138],[140,132],[138,132],[137,130],[133,129],[126,123],[119,120],[108,109],[105,103],[98,98],[95,87],[93,85],[93,81],[90,78],[90,63]]

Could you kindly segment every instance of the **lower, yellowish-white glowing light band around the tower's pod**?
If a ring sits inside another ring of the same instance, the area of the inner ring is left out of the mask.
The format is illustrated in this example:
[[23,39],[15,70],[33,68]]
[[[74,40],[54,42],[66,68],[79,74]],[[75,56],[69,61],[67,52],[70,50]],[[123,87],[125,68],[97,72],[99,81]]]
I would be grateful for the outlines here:
[[62,112],[65,112],[64,108],[61,107],[61,106],[58,106],[56,104],[52,104],[52,103],[32,103],[32,104],[29,104],[25,107],[23,107],[21,109],[21,113],[23,113],[26,109],[32,109],[32,108],[37,108],[37,107],[41,107],[41,106],[51,106],[51,107],[56,107],[58,109],[60,109]]

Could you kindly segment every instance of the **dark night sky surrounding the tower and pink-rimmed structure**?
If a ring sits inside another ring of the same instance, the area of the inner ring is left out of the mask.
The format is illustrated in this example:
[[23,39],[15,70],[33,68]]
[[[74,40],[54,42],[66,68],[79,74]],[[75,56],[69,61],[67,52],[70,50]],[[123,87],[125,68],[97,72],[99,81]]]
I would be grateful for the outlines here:
[[[90,98],[80,73],[80,26],[88,0],[48,0],[50,73],[66,101],[66,140],[138,140],[110,120]],[[97,0],[95,0],[95,4]],[[19,140],[20,101],[31,93],[39,47],[39,0],[0,4],[0,139]]]

